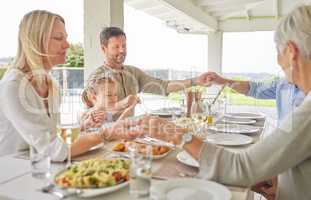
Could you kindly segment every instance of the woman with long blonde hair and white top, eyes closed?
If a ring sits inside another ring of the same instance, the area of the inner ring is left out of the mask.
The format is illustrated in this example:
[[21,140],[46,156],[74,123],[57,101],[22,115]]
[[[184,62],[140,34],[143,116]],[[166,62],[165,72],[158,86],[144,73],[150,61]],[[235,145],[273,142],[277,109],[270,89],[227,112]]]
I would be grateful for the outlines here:
[[[56,137],[59,90],[49,71],[65,62],[68,47],[61,16],[35,10],[22,19],[15,62],[0,82],[0,155],[26,149],[32,138],[40,141],[43,134],[50,133],[52,160],[67,157],[66,145]],[[83,134],[72,144],[71,155],[79,155],[108,137],[135,137],[138,132],[126,131],[129,126],[119,122],[98,134]],[[34,145],[42,146],[40,142]]]

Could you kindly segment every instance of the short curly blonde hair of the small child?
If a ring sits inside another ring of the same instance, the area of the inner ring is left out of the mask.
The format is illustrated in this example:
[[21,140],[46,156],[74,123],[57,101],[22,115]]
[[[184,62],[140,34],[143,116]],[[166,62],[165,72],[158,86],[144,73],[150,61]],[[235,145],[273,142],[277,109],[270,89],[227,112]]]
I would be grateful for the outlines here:
[[115,79],[109,73],[97,73],[91,75],[81,95],[83,103],[87,108],[92,108],[94,104],[91,101],[91,95],[98,92],[98,86],[107,84],[106,88],[108,89],[108,84],[116,83]]

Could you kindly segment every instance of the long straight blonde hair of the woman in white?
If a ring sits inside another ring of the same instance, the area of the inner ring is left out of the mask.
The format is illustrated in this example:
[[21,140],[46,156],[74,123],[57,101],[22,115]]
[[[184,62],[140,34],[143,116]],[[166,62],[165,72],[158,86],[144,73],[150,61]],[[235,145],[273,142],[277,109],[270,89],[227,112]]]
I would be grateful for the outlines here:
[[63,17],[46,10],[33,10],[24,15],[19,25],[17,54],[10,68],[30,73],[38,84],[47,77],[50,90],[57,93],[58,85],[46,73],[43,65],[44,58],[53,56],[47,54],[47,49],[55,20],[65,24]]

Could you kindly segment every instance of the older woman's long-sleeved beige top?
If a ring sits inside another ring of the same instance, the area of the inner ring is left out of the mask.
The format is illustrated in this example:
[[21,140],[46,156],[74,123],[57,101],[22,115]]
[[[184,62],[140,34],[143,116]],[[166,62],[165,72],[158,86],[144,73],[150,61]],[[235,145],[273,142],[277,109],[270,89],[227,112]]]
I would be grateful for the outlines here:
[[243,152],[212,144],[200,154],[199,176],[251,186],[278,176],[279,200],[311,199],[311,92],[271,135]]

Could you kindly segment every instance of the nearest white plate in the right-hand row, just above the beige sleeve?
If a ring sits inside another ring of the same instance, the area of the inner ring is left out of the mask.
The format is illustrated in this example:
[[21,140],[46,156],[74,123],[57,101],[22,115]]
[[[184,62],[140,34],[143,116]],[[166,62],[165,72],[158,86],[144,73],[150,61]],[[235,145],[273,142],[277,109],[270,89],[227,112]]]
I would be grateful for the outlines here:
[[205,140],[223,146],[241,146],[253,142],[253,139],[249,136],[229,133],[210,134]]

